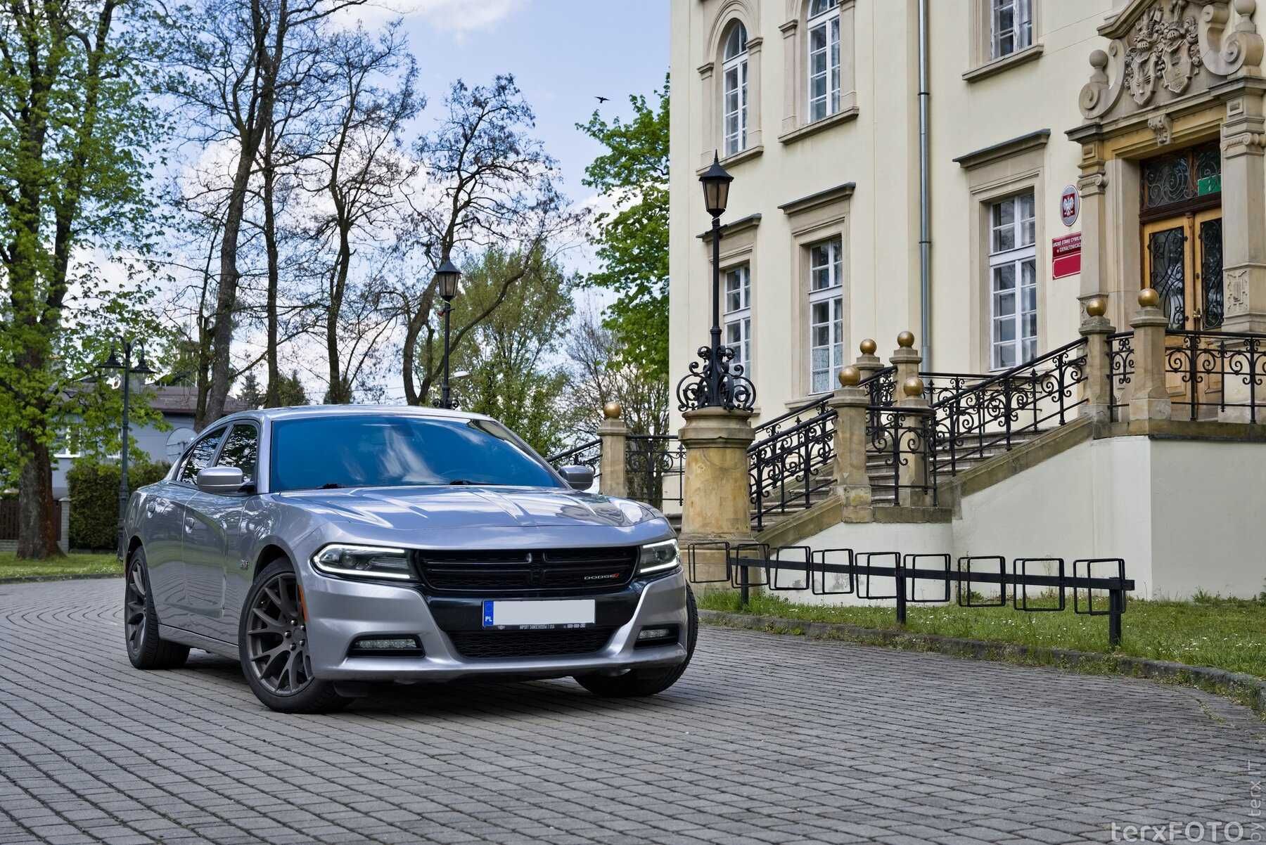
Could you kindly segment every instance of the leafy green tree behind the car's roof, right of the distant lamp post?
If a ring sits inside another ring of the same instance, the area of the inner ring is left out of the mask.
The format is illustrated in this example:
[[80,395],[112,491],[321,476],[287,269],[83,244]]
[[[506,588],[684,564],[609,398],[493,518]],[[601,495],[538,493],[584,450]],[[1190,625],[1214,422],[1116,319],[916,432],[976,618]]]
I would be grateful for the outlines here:
[[[520,272],[522,281],[503,293],[505,280]],[[462,410],[501,420],[542,454],[557,450],[576,416],[557,354],[573,312],[575,280],[542,250],[524,261],[494,247],[467,264],[462,281],[454,320],[504,297],[449,362],[453,372],[470,373],[453,383]]]

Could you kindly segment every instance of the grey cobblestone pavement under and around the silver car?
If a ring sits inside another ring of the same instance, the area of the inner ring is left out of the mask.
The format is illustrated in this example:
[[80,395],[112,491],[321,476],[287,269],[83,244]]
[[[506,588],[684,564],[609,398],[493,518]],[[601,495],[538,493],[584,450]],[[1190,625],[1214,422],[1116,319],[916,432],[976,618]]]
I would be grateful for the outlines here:
[[1251,841],[1262,821],[1266,726],[1191,689],[705,627],[652,700],[479,683],[296,717],[200,651],[132,669],[122,598],[0,586],[0,842],[957,845],[1170,821]]

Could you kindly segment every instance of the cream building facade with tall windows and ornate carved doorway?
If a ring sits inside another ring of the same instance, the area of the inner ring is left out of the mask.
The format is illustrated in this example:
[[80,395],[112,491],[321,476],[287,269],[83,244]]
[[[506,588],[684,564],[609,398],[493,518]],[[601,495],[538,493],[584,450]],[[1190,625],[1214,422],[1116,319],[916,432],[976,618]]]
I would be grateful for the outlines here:
[[1175,326],[1266,330],[1256,16],[1255,0],[674,0],[672,377],[708,340],[714,153],[734,177],[724,339],[753,424],[906,329],[924,369],[965,373],[1077,339],[1096,296],[1127,326],[1144,286]]

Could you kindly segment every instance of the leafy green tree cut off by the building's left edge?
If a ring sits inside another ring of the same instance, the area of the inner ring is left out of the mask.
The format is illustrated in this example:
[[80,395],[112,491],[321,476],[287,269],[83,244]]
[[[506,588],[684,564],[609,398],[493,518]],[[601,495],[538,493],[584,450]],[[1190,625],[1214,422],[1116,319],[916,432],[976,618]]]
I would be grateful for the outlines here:
[[668,78],[656,104],[630,96],[633,118],[608,123],[598,111],[576,124],[606,148],[582,182],[613,210],[596,215],[592,242],[603,267],[589,285],[615,291],[606,325],[625,363],[651,377],[668,374]]

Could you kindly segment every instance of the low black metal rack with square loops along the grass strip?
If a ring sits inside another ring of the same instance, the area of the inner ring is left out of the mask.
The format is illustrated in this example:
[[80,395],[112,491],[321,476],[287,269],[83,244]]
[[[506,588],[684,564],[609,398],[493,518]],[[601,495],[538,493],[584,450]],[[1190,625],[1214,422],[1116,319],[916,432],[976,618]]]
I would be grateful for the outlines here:
[[[723,553],[722,578],[700,578],[699,552]],[[906,622],[906,607],[914,603],[960,607],[1012,607],[1038,614],[1067,608],[1085,616],[1108,617],[1108,644],[1120,645],[1125,596],[1134,582],[1125,578],[1122,558],[1080,558],[1071,573],[1063,558],[1014,558],[1010,571],[1003,555],[965,555],[952,565],[950,554],[903,554],[900,552],[855,552],[849,548],[813,549],[806,545],[771,548],[765,543],[694,543],[686,546],[686,567],[694,583],[724,583],[738,591],[746,607],[753,588],[774,592],[810,591],[815,596],[856,596],[868,601],[893,601],[896,621]],[[929,564],[929,565],[920,565]],[[1055,574],[1029,572],[1041,565]],[[828,581],[828,577],[832,577]],[[925,587],[919,589],[919,587]],[[981,593],[996,588],[996,593]],[[1029,589],[1043,595],[1029,595]]]

